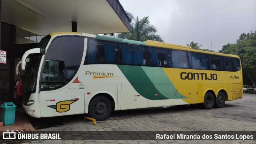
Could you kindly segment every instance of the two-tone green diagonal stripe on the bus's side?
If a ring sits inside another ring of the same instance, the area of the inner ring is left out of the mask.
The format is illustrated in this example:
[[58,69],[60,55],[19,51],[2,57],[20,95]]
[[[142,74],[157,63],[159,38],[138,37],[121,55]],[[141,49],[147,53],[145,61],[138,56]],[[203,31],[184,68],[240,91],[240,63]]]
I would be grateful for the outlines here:
[[[144,98],[150,100],[180,99],[181,94],[172,91],[176,88],[162,68],[117,65],[132,87]],[[187,98],[182,96],[182,98]]]

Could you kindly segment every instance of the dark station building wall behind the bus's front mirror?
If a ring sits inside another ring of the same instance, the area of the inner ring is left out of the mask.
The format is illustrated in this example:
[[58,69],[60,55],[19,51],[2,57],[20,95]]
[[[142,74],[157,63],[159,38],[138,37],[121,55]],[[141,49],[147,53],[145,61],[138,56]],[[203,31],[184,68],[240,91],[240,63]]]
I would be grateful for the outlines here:
[[[16,30],[18,30],[19,34],[16,34]],[[37,43],[28,39],[27,36],[22,37],[19,31],[20,28],[17,26],[1,21],[0,50],[6,51],[7,60],[6,64],[0,64],[0,101],[13,100],[14,81],[18,79],[18,76],[16,76],[16,65],[21,60],[24,52],[37,46]],[[31,32],[28,32],[28,34],[34,36]]]

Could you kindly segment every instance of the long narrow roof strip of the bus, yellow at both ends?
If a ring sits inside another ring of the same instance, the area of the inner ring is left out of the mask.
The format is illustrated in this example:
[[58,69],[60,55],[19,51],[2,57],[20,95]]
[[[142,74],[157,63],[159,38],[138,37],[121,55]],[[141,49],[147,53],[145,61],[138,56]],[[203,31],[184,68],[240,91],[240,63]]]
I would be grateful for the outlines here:
[[144,42],[136,41],[136,40],[127,40],[127,39],[122,39],[122,38],[115,38],[112,36],[100,36],[100,35],[94,35],[94,34],[86,34],[86,33],[80,33],[80,32],[54,32],[49,34],[50,36],[54,35],[82,35],[86,37],[91,37],[91,38],[97,38],[97,39],[102,39],[102,40],[110,40],[110,41],[116,41],[116,42],[126,42],[130,44],[140,44],[140,45],[146,45],[146,46],[155,46],[155,47],[160,47],[160,48],[172,48],[176,50],[186,50],[190,52],[199,52],[199,53],[204,53],[204,54],[214,54],[214,55],[219,55],[219,56],[230,56],[230,57],[236,57],[239,58],[239,56],[232,55],[232,54],[222,54],[218,52],[208,52],[204,50],[194,50],[190,46],[184,46],[184,45],[179,45],[179,44],[171,44],[171,43],[166,43],[166,42],[157,42],[153,40],[147,40]]

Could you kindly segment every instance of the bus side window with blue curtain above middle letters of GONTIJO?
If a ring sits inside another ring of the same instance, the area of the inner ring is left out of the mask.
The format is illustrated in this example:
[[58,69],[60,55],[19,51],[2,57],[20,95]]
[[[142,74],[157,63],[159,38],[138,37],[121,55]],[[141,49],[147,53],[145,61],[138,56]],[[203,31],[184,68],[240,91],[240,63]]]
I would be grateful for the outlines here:
[[192,53],[192,68],[207,70],[207,61],[208,58],[205,54]]

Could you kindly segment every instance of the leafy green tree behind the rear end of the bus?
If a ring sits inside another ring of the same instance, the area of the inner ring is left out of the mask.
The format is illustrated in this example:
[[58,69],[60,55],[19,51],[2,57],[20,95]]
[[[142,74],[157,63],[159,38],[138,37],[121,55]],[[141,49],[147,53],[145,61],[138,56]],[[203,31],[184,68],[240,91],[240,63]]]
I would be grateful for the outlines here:
[[238,55],[241,59],[243,73],[256,86],[256,31],[250,31],[248,34],[242,33],[236,40],[236,44],[226,44],[219,52]]

